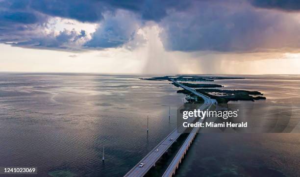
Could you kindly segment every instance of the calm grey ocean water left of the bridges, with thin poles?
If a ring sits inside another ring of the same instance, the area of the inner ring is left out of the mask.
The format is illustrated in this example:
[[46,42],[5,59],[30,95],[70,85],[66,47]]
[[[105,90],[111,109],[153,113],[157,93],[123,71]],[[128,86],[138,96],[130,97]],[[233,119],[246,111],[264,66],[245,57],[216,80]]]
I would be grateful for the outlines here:
[[175,128],[184,97],[140,77],[2,73],[0,166],[37,166],[39,177],[125,175]]

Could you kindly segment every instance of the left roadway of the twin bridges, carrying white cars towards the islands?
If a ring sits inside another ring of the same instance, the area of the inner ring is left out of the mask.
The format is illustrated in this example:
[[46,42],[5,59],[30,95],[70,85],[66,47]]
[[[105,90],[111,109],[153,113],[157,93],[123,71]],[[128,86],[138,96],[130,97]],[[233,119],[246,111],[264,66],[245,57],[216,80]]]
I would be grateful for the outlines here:
[[[171,79],[172,82],[180,85],[182,88],[198,95],[203,98],[204,103],[199,107],[199,109],[205,109],[210,106],[214,101],[209,97],[202,95],[190,87],[184,86],[181,83]],[[189,119],[188,122],[192,123],[195,119]],[[183,126],[175,128],[166,138],[164,138],[153,150],[151,150],[142,160],[139,161],[124,177],[143,177],[158,161],[158,159],[170,148],[170,146],[177,140],[181,133],[185,130]],[[173,140],[170,141],[170,138]],[[158,152],[155,152],[155,150]],[[143,167],[139,167],[140,163],[144,163]]]

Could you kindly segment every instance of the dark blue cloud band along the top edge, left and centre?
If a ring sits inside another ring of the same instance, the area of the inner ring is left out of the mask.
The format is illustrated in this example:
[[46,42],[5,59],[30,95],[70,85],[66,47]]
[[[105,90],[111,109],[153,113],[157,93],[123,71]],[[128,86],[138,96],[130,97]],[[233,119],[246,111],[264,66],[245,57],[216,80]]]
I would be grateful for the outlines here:
[[11,10],[35,10],[55,17],[80,22],[99,22],[105,11],[125,9],[140,14],[144,20],[159,21],[168,9],[181,10],[190,0],[4,0],[0,4]]

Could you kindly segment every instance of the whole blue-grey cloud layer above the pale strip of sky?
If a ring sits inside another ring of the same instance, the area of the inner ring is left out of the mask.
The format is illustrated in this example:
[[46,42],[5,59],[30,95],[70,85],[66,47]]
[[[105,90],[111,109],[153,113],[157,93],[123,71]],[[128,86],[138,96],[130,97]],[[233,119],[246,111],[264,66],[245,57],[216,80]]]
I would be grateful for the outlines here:
[[[134,50],[146,42],[139,30],[155,24],[168,51],[298,51],[299,10],[296,0],[0,0],[0,42],[49,50]],[[56,17],[98,27],[93,33],[57,30],[50,27]]]

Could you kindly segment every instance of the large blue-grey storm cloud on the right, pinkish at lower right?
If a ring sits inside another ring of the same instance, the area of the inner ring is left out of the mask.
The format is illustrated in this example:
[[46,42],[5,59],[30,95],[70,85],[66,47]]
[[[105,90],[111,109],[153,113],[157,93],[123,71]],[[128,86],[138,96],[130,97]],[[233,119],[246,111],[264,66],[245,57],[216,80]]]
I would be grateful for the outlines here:
[[195,2],[160,25],[170,51],[252,52],[300,48],[300,25],[290,14],[256,9],[247,1]]

